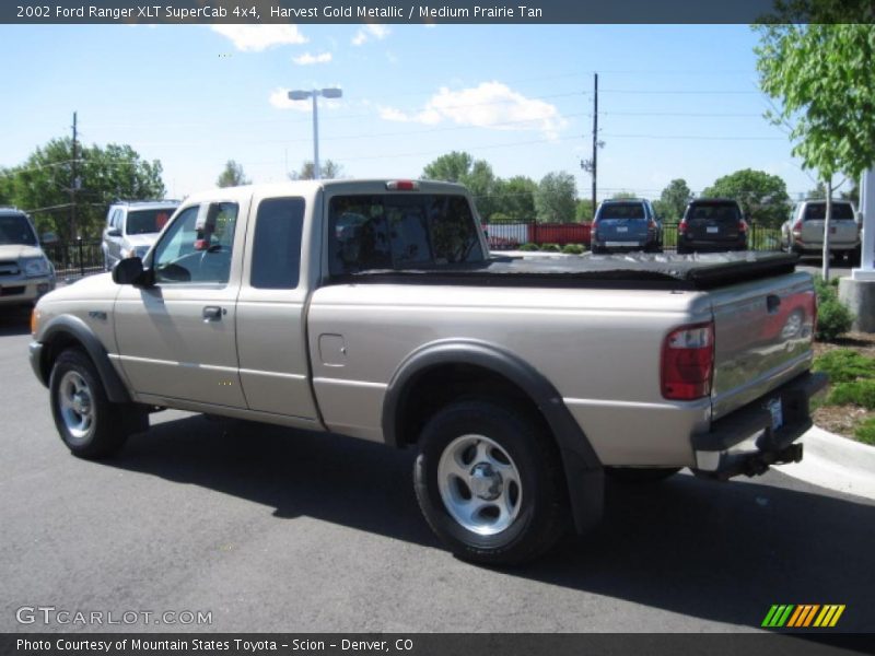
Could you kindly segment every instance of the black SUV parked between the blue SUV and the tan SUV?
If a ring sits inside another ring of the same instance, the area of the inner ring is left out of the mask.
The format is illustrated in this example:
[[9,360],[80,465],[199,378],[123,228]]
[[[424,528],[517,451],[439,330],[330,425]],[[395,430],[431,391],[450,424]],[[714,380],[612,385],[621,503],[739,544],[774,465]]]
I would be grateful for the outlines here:
[[742,208],[725,198],[691,201],[677,226],[677,251],[747,250],[748,225]]

